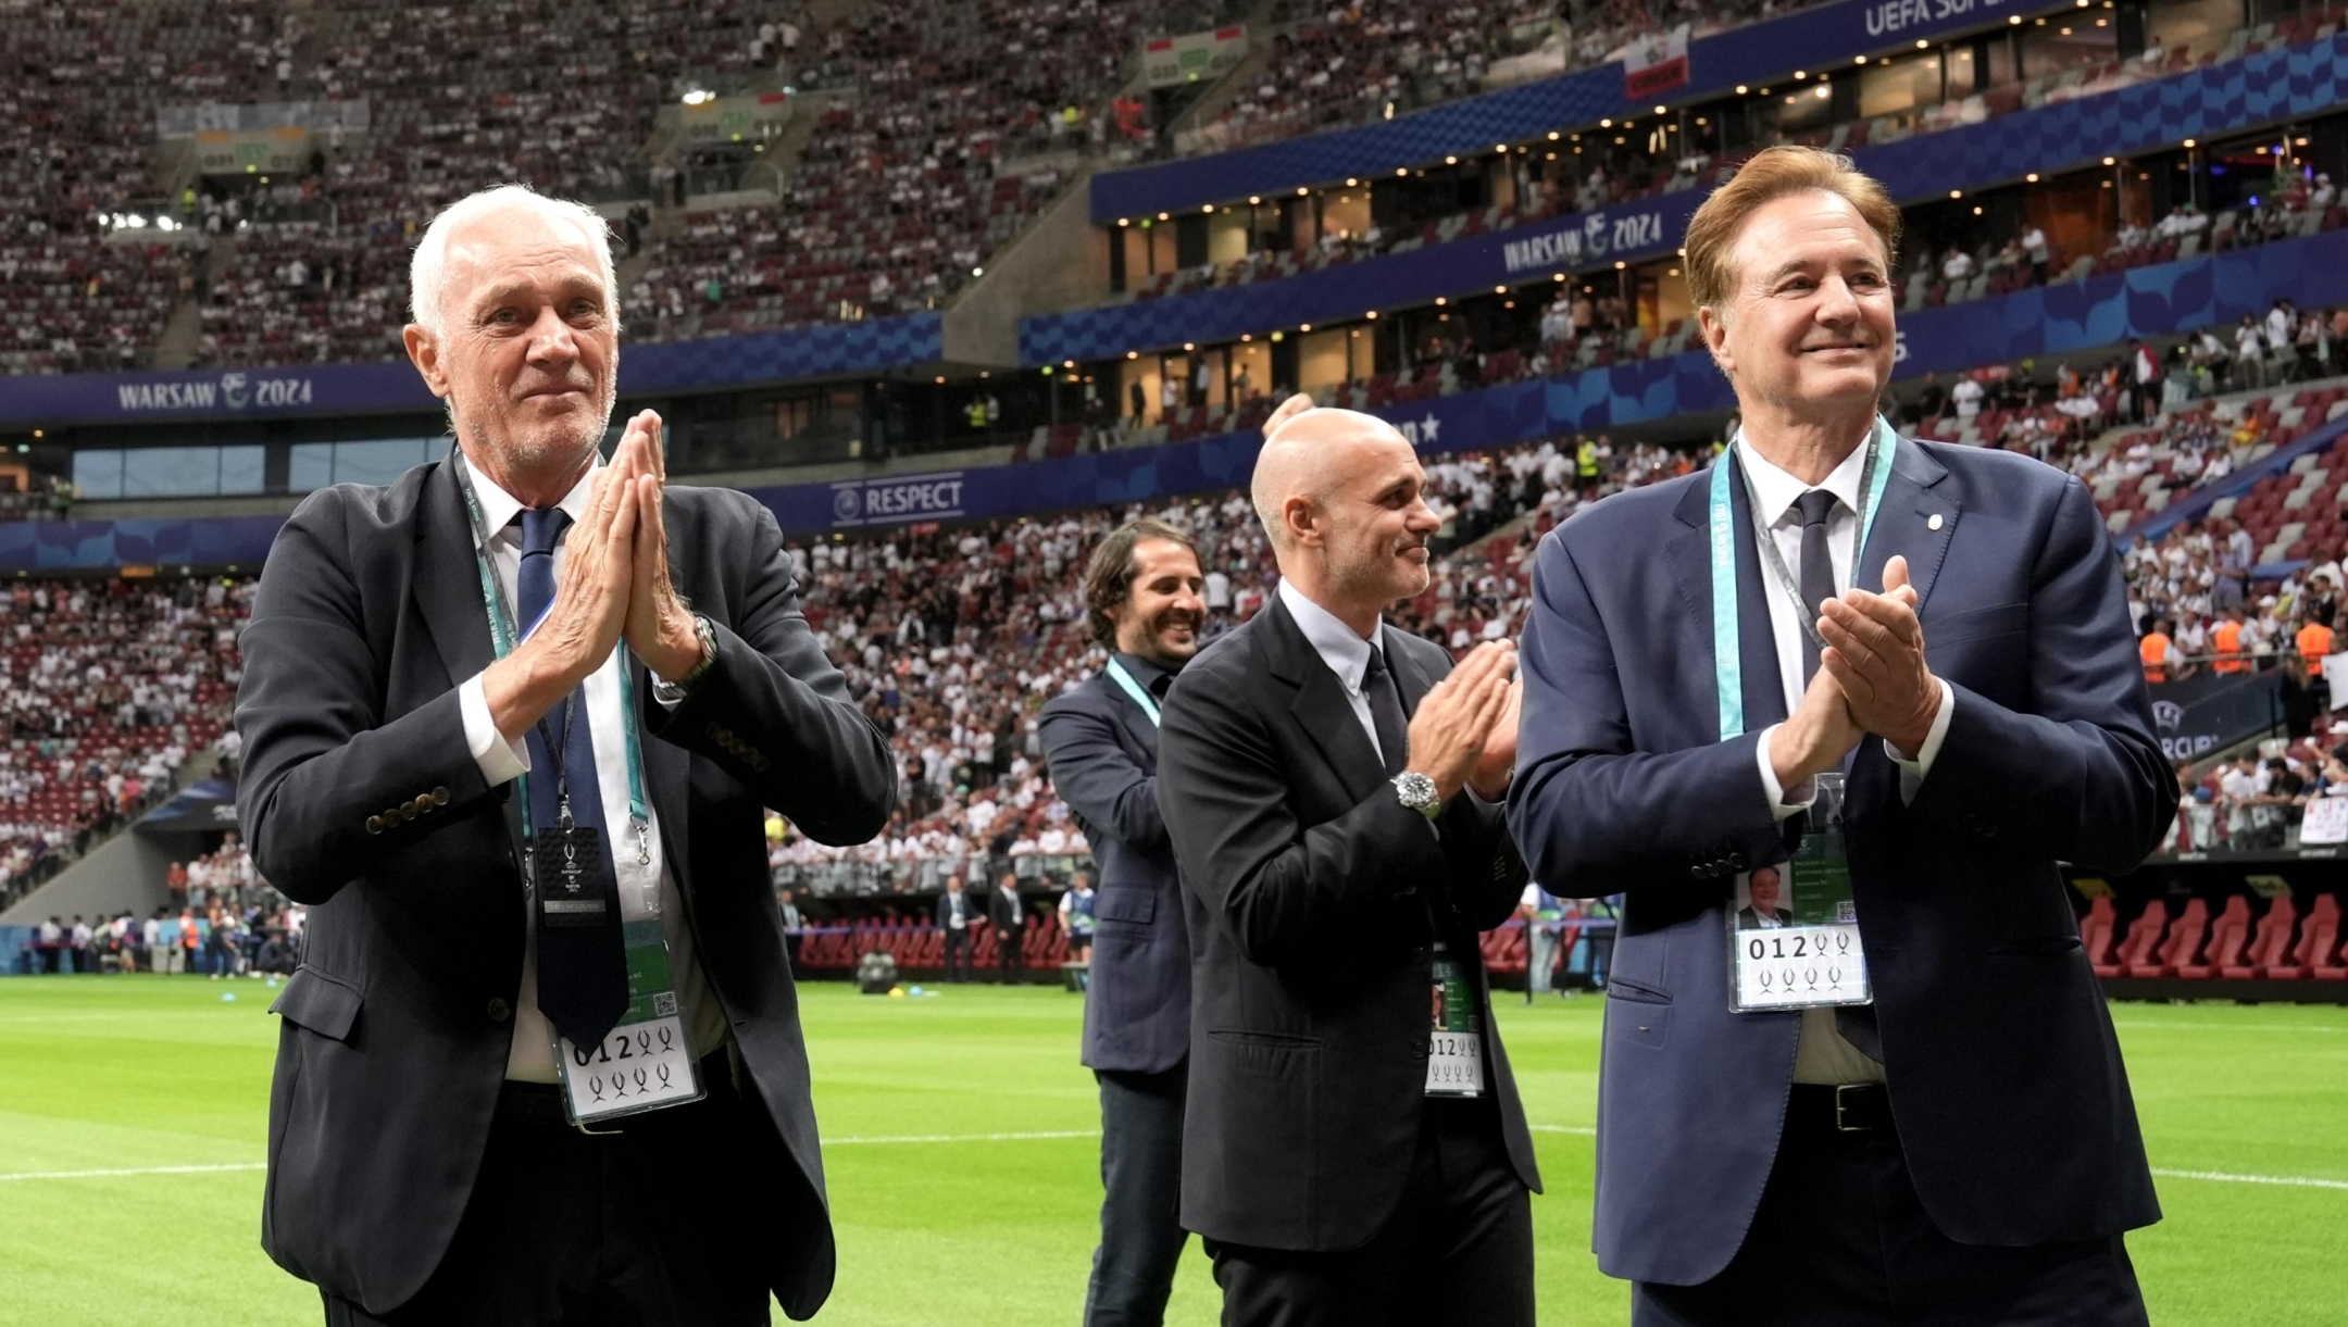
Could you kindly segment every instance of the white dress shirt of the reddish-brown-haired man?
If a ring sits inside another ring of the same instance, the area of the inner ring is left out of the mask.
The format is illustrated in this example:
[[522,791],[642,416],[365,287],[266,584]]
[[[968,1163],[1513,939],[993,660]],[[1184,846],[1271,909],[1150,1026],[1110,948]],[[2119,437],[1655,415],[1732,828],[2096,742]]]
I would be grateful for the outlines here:
[[[1810,484],[1787,474],[1777,465],[1761,458],[1752,444],[1738,435],[1735,442],[1738,460],[1745,467],[1747,496],[1754,500],[1754,512],[1768,526],[1770,540],[1777,543],[1777,554],[1784,557],[1787,571],[1801,578],[1801,512],[1794,503],[1810,491]],[[1834,582],[1850,585],[1850,564],[1857,559],[1860,543],[1860,472],[1867,467],[1867,446],[1857,446],[1820,489],[1834,493],[1834,512],[1827,514],[1827,557],[1834,561]],[[1756,550],[1759,552],[1759,550]],[[1768,599],[1768,622],[1770,636],[1777,644],[1777,679],[1784,683],[1784,712],[1792,714],[1801,709],[1801,639],[1803,618],[1794,611],[1794,599],[1784,592],[1777,573],[1768,566],[1768,554],[1761,554],[1761,585]],[[1815,622],[1815,608],[1810,611]],[[1939,756],[1939,745],[1949,737],[1949,714],[1956,707],[1956,693],[1946,681],[1939,683],[1939,709],[1932,714],[1932,728],[1925,733],[1923,749],[1916,759],[1907,759],[1897,747],[1883,742],[1883,752],[1900,766],[1900,796],[1902,801],[1914,799],[1916,789],[1923,787],[1923,777],[1932,770],[1932,759]],[[1796,810],[1810,806],[1815,796],[1813,784],[1796,784],[1792,789],[1777,784],[1777,770],[1768,759],[1770,735],[1777,730],[1775,723],[1761,730],[1759,763],[1761,763],[1761,792],[1768,796],[1770,815],[1784,820]],[[1850,1045],[1841,1031],[1834,1026],[1834,1010],[1803,1010],[1801,1012],[1801,1050],[1794,1055],[1794,1083],[1881,1083],[1883,1064],[1869,1059],[1860,1048]]]

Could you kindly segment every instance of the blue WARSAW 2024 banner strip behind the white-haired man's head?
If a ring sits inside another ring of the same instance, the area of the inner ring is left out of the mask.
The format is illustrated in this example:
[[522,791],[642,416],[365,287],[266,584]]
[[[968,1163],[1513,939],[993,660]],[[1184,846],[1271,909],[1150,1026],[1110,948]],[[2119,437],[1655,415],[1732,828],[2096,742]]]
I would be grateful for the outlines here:
[[[944,319],[935,312],[707,341],[629,345],[622,336],[620,392],[641,397],[735,383],[878,373],[942,357]],[[399,411],[439,411],[439,399],[425,390],[406,359],[0,378],[0,425],[23,427]]]

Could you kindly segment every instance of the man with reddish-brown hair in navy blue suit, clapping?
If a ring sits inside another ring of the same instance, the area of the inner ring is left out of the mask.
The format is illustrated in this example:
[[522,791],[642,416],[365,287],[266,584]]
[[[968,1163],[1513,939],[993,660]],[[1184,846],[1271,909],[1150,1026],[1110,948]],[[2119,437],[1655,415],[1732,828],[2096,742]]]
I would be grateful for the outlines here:
[[[1735,442],[1536,564],[1510,824],[1625,895],[1594,1247],[1639,1327],[2144,1322],[2057,862],[2134,867],[2177,787],[2087,491],[1876,418],[1897,237],[1843,157],[1742,167],[1686,249]],[[1738,932],[1759,867],[1792,921]]]

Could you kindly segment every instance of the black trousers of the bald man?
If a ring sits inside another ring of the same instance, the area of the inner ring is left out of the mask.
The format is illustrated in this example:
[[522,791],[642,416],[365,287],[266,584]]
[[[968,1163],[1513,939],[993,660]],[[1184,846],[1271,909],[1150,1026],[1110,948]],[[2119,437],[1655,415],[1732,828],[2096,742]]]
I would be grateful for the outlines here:
[[1359,1249],[1207,1254],[1223,1327],[1533,1327],[1533,1198],[1489,1097],[1428,1102],[1402,1203]]

